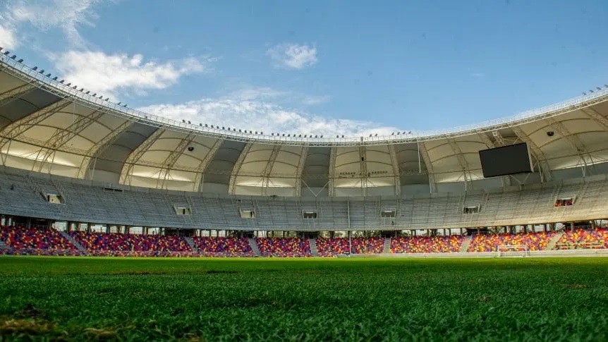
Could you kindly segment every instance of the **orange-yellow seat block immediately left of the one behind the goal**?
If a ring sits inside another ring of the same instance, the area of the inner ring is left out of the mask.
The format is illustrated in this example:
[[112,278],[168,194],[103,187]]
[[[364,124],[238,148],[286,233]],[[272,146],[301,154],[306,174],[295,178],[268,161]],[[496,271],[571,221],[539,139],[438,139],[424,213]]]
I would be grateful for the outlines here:
[[403,236],[391,238],[391,253],[460,252],[464,236]]

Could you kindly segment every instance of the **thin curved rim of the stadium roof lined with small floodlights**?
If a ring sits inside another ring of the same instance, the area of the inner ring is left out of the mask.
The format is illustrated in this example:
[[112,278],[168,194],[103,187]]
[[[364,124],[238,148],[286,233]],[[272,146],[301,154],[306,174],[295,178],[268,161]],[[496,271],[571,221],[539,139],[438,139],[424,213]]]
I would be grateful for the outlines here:
[[39,73],[29,66],[19,63],[8,54],[0,54],[0,66],[4,71],[25,81],[37,85],[37,87],[56,94],[65,99],[71,99],[83,106],[92,109],[105,109],[108,114],[126,118],[130,121],[145,123],[150,126],[165,127],[169,130],[176,130],[188,134],[196,134],[209,136],[213,138],[222,138],[225,140],[236,140],[245,142],[256,142],[260,144],[272,145],[308,145],[308,146],[359,146],[359,145],[392,145],[401,144],[404,142],[423,142],[428,140],[439,140],[442,138],[454,138],[462,135],[471,135],[501,128],[518,126],[523,123],[538,121],[543,118],[558,116],[580,108],[591,106],[599,102],[608,100],[608,87],[604,87],[597,92],[581,95],[572,99],[567,99],[564,102],[557,104],[549,104],[538,109],[531,109],[523,113],[516,114],[505,118],[497,118],[482,123],[476,123],[467,126],[458,126],[444,130],[418,131],[405,135],[382,135],[370,137],[346,137],[346,138],[296,138],[279,136],[279,135],[262,135],[255,133],[243,133],[232,130],[223,130],[220,128],[211,128],[206,126],[197,126],[195,124],[183,123],[170,118],[164,118],[153,114],[148,114],[137,109],[127,108],[126,105],[116,104],[106,101],[102,97],[94,97],[85,92],[80,92],[78,87],[69,87],[57,80]]

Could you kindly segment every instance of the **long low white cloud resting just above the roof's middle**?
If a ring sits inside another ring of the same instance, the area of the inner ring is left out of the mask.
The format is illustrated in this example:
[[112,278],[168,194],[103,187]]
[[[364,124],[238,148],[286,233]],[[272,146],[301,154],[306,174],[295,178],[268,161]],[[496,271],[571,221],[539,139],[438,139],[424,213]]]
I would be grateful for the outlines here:
[[221,97],[184,104],[156,104],[140,108],[150,114],[177,121],[207,123],[269,133],[367,136],[389,135],[398,129],[370,121],[325,118],[265,102],[262,98]]

